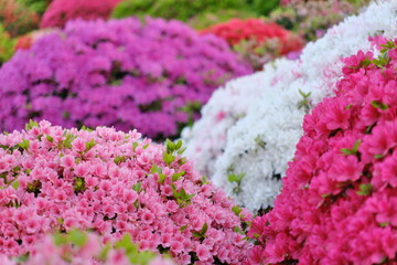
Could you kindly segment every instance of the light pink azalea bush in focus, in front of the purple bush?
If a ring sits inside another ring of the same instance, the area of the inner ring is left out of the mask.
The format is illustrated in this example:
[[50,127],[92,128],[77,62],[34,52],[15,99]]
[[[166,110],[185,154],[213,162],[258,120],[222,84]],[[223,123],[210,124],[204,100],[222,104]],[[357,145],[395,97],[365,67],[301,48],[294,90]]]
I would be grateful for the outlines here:
[[243,264],[251,219],[181,157],[137,130],[62,129],[31,121],[0,135],[0,253],[24,254],[45,233],[130,234],[179,264]]

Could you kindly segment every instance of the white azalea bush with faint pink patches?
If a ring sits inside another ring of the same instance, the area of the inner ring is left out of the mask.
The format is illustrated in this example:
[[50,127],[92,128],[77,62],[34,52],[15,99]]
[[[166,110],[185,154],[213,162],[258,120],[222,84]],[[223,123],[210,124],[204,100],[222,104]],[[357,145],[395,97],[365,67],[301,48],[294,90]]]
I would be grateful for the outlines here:
[[[342,76],[341,55],[371,49],[368,35],[383,32],[387,38],[397,36],[396,9],[395,1],[372,3],[364,13],[347,18],[308,44],[300,60],[267,64],[260,81],[258,75],[251,76],[249,94],[254,97],[245,93],[244,86],[226,85],[224,92],[216,92],[203,108],[216,112],[204,113],[192,129],[183,132],[186,153],[198,161],[197,169],[210,171],[215,184],[250,210],[272,205],[302,134],[303,116],[324,96],[332,95]],[[244,82],[249,83],[250,76]],[[227,100],[222,94],[229,95]],[[200,162],[208,159],[213,161],[208,166]]]

